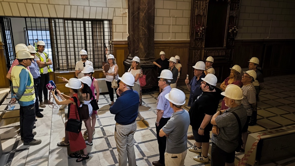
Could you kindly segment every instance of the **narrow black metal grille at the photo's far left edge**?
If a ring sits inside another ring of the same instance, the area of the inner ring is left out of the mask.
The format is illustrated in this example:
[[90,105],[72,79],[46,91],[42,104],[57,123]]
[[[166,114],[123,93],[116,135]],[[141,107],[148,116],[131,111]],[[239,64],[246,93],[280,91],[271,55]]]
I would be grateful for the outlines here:
[[10,18],[1,17],[1,37],[4,42],[4,54],[6,56],[6,64],[9,69],[15,60],[14,41],[12,35],[12,27]]

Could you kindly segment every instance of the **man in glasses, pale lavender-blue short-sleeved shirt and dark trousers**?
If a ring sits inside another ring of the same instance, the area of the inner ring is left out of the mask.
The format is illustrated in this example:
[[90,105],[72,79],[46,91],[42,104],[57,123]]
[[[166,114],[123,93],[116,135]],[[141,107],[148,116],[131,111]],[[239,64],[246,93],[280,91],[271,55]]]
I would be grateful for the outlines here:
[[173,74],[170,70],[162,70],[160,74],[160,80],[158,86],[163,89],[162,93],[157,99],[157,119],[156,119],[156,132],[159,147],[160,160],[153,161],[153,165],[162,166],[165,165],[164,153],[166,150],[166,137],[160,137],[160,129],[167,123],[173,114],[173,109],[170,107],[169,101],[165,98],[165,95],[171,91],[170,83],[173,79]]

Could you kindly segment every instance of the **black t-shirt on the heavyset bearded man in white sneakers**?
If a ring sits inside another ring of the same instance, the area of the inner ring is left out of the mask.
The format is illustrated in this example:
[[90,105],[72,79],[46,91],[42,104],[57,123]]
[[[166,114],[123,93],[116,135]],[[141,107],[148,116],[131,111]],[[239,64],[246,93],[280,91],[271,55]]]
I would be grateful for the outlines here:
[[[219,88],[215,87],[216,92],[203,92],[201,93],[196,101],[194,101],[189,109],[190,125],[194,129],[198,129],[201,123],[207,115],[214,115],[218,109],[219,100],[224,98],[220,93],[222,92]],[[209,122],[205,127],[205,131],[211,131],[212,124]]]

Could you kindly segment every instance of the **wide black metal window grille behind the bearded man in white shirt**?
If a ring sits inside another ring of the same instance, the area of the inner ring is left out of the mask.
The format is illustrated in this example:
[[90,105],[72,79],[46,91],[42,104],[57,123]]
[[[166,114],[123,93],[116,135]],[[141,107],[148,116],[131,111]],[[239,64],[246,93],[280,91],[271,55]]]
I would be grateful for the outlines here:
[[[93,63],[94,69],[101,69],[106,56],[112,53],[112,47],[109,45],[112,40],[111,20],[44,19],[40,20],[43,23],[39,23],[37,18],[28,18],[26,22],[27,32],[46,32],[45,43],[48,44],[47,48],[50,48],[47,52],[50,52],[54,71],[75,70],[76,62],[81,60],[79,52],[82,49],[87,51],[88,60]],[[39,24],[42,26],[37,26]],[[50,35],[47,35],[48,30]],[[27,41],[33,44],[36,37],[30,37],[30,34],[27,36]]]

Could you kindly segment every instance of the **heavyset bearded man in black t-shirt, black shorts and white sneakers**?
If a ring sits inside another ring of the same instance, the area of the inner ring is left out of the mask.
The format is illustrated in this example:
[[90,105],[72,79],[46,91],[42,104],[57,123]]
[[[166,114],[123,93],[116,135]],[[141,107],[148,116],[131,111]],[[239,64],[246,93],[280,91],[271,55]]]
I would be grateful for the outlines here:
[[219,101],[222,99],[221,90],[214,88],[217,78],[214,74],[207,74],[205,78],[201,78],[200,89],[203,91],[189,109],[190,125],[192,126],[195,144],[189,148],[191,152],[201,153],[194,156],[194,160],[198,162],[208,162],[209,140],[212,124],[210,123],[212,116],[218,109]]

